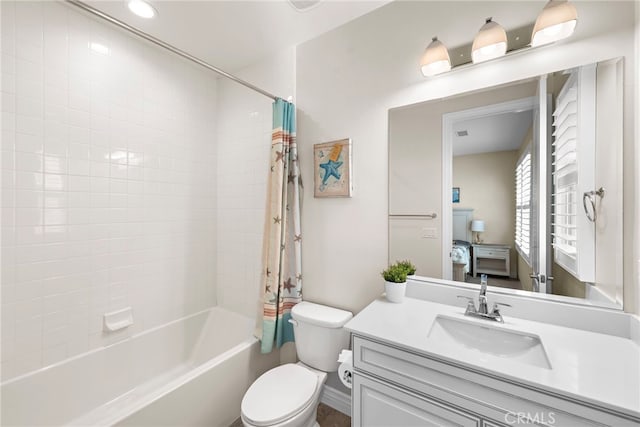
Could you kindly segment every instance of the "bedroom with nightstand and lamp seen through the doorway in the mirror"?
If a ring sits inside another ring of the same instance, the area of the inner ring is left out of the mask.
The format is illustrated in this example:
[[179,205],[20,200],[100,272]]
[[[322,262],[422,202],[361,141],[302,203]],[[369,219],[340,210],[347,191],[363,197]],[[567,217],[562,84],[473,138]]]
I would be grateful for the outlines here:
[[521,205],[514,178],[518,165],[531,158],[536,86],[525,83],[523,89],[525,98],[446,114],[452,184],[464,189],[452,200],[454,280],[480,283],[480,274],[488,274],[493,286],[528,288],[528,275],[518,275],[514,245]]

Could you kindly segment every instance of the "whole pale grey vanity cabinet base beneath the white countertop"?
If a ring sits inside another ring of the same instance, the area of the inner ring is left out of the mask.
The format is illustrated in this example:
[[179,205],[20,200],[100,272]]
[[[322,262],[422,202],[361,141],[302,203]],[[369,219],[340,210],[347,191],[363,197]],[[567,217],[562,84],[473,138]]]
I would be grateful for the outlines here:
[[353,335],[354,426],[637,426],[593,403]]

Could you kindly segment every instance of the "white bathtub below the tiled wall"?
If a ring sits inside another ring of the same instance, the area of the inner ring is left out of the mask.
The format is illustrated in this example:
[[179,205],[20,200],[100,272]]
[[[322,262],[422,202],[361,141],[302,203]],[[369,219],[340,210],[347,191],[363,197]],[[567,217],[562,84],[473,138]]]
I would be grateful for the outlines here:
[[229,426],[279,355],[214,307],[1,386],[2,426]]

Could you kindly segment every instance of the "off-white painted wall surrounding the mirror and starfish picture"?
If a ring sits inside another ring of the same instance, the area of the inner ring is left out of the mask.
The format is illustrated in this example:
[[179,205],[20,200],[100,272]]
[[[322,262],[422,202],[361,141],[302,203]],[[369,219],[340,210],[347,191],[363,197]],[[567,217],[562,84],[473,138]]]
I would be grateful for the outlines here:
[[[313,178],[310,159],[315,143],[350,137],[354,153],[353,198],[314,199],[305,192],[305,298],[358,311],[382,292],[378,272],[388,258],[390,108],[616,56],[627,57],[623,166],[625,183],[631,184],[625,187],[624,229],[635,229],[635,5],[575,4],[580,24],[572,38],[434,79],[424,79],[418,69],[419,57],[432,35],[449,46],[470,43],[486,16],[500,11],[501,24],[515,28],[532,22],[543,2],[394,2],[298,47],[303,178],[308,182]],[[456,16],[455,23],[451,16]],[[625,310],[638,312],[632,258],[637,239],[625,234]]]

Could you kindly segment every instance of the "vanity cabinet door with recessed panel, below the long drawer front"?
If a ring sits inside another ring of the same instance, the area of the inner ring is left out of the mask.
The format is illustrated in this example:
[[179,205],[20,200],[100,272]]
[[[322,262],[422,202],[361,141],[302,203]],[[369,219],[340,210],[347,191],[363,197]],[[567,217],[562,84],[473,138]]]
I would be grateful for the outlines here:
[[353,426],[474,426],[480,419],[456,408],[379,383],[353,378]]

